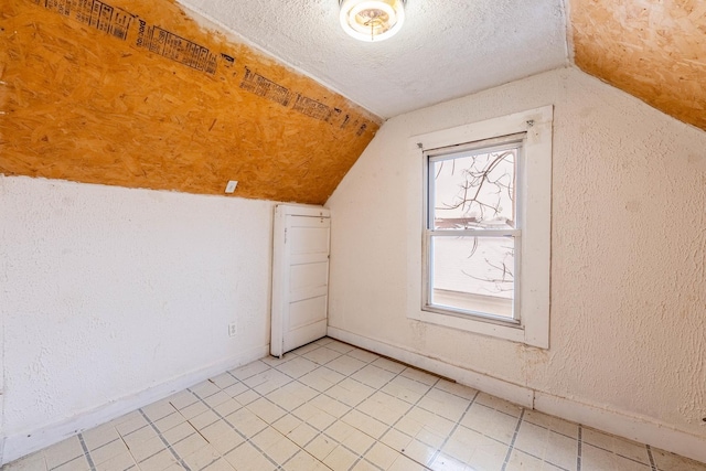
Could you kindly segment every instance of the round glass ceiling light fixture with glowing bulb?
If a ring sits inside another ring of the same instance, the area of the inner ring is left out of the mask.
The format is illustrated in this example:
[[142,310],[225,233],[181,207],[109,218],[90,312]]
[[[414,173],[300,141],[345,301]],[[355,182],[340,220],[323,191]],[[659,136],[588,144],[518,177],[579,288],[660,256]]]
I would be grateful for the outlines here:
[[405,22],[405,0],[339,0],[343,31],[361,41],[383,41]]

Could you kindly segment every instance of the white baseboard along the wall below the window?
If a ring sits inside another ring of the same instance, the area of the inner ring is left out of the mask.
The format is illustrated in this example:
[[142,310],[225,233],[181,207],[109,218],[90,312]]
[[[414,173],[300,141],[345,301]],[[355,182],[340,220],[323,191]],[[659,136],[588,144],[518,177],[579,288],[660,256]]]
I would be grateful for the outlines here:
[[510,400],[523,407],[534,408],[545,414],[603,430],[608,433],[706,462],[706,437],[677,430],[673,426],[660,422],[651,417],[638,416],[627,411],[610,410],[597,405],[585,404],[575,399],[535,390],[526,386],[452,365],[441,360],[430,358],[404,346],[362,336],[338,328],[329,327],[328,334],[342,342],[452,378],[460,384],[492,394],[493,396]]

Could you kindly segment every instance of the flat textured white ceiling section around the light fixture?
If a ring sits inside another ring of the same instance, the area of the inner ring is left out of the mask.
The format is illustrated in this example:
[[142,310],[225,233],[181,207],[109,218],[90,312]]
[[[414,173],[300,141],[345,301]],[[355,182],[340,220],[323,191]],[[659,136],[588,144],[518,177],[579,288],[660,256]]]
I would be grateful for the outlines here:
[[338,0],[179,1],[383,118],[568,64],[565,0],[408,0],[377,43]]

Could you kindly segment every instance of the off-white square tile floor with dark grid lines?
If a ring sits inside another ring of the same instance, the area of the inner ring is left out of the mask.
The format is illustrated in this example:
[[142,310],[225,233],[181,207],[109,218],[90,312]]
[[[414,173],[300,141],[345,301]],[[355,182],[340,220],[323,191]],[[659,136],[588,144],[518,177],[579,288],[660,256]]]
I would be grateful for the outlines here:
[[2,471],[616,470],[706,464],[322,339]]

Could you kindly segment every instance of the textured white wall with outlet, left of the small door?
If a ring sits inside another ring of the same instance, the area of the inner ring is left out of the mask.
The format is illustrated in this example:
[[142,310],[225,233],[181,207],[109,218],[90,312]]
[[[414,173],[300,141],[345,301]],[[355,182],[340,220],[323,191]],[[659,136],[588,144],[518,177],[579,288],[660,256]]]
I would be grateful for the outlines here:
[[263,351],[271,214],[263,201],[0,176],[2,436]]

